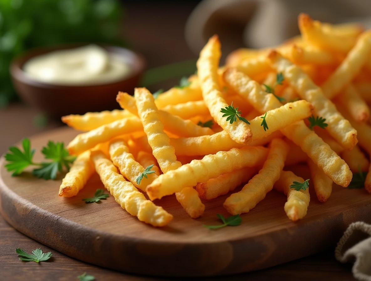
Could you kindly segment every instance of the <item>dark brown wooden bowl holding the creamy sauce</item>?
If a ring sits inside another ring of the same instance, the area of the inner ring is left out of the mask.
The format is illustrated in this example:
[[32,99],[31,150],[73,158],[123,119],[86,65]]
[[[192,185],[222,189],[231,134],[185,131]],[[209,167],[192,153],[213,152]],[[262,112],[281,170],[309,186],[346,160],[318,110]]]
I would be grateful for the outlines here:
[[79,45],[64,45],[53,48],[35,49],[15,58],[10,66],[14,87],[20,97],[30,105],[39,108],[49,117],[60,118],[68,114],[84,114],[119,108],[116,102],[118,91],[132,94],[145,69],[145,59],[132,50],[101,45],[109,53],[122,56],[131,68],[131,74],[120,81],[91,86],[52,85],[36,81],[23,71],[23,65],[30,58],[54,50],[76,48]]

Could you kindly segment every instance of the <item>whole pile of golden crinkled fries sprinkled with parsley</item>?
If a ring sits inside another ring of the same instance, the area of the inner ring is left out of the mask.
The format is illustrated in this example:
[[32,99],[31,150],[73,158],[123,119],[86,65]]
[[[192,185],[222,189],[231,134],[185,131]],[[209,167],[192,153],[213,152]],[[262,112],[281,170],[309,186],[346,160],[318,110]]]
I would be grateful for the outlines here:
[[[123,110],[63,117],[86,133],[68,145],[78,158],[59,195],[75,196],[96,171],[123,209],[165,226],[173,216],[152,201],[167,195],[197,218],[201,199],[244,184],[223,204],[236,215],[275,188],[296,221],[307,213],[309,185],[320,202],[333,183],[347,187],[352,172],[370,167],[371,31],[306,14],[298,21],[301,36],[275,48],[236,50],[220,68],[220,42],[211,37],[188,86],[156,99],[136,88],[134,97],[118,94]],[[301,162],[309,182],[283,170]],[[370,171],[365,189],[371,192]]]

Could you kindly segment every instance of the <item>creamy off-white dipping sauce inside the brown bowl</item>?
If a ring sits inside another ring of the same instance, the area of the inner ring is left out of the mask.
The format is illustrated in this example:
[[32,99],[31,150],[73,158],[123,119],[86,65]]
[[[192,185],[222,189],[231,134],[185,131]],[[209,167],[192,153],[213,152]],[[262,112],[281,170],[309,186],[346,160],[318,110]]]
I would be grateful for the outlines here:
[[97,45],[58,50],[29,59],[23,71],[31,78],[55,85],[98,85],[117,82],[131,71],[119,56]]

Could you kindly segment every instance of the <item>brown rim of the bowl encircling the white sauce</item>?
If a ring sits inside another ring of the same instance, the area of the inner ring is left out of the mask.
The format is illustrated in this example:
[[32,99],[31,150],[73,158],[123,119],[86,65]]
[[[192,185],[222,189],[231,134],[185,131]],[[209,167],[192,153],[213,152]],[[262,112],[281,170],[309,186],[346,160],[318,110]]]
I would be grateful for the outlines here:
[[[32,58],[35,58],[39,55],[45,55],[46,53],[50,53],[56,50],[67,50],[67,49],[73,49],[78,48],[90,44],[95,44],[98,46],[101,46],[102,48],[106,49],[109,53],[115,53],[119,56],[132,56],[134,58],[132,61],[132,71],[129,75],[125,76],[124,78],[115,81],[115,82],[109,82],[104,84],[92,84],[92,85],[60,85],[60,84],[49,84],[45,82],[40,82],[34,78],[31,78],[30,76],[26,75],[26,72],[23,71],[23,65],[29,61]],[[116,50],[116,52],[115,52]],[[134,50],[124,48],[122,46],[117,45],[109,45],[109,44],[102,44],[102,43],[69,43],[69,44],[60,44],[60,45],[54,45],[54,46],[45,46],[45,47],[39,47],[39,48],[33,48],[30,50],[27,50],[26,52],[23,52],[22,54],[16,56],[12,62],[10,63],[10,75],[13,79],[16,79],[24,84],[42,87],[42,88],[50,88],[50,89],[68,89],[68,88],[86,88],[86,87],[99,87],[99,86],[107,86],[107,85],[115,85],[115,84],[121,84],[122,82],[125,82],[137,75],[140,75],[142,72],[144,72],[145,68],[147,66],[147,61],[145,57]]]

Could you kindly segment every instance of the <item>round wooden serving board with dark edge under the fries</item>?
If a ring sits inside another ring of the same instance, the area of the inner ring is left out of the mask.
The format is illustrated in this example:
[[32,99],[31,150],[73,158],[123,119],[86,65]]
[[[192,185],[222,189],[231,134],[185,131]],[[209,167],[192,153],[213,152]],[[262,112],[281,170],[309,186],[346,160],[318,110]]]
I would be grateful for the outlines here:
[[[35,160],[48,140],[68,143],[76,131],[62,128],[31,138]],[[334,186],[328,202],[314,194],[308,215],[297,223],[285,215],[285,196],[269,192],[242,224],[211,231],[203,224],[219,224],[216,214],[226,196],[204,202],[206,210],[191,219],[175,200],[157,200],[174,215],[164,228],[139,222],[115,202],[86,204],[97,188],[94,175],[72,198],[58,196],[63,175],[57,180],[36,179],[26,171],[12,177],[0,160],[0,210],[14,228],[70,257],[102,267],[160,276],[206,276],[233,274],[271,267],[334,247],[349,223],[371,223],[371,196],[364,189]],[[300,167],[299,167],[300,168]],[[308,178],[306,170],[295,171]]]

